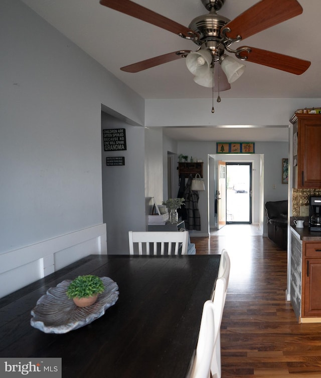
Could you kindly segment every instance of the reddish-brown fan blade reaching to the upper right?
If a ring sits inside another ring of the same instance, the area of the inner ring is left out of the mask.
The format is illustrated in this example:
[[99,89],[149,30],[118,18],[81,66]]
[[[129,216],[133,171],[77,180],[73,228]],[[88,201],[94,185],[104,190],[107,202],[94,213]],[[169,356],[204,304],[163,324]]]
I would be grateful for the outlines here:
[[302,7],[296,0],[261,0],[226,24],[222,31],[229,28],[231,32],[226,34],[228,38],[236,39],[240,36],[245,39],[302,12]]

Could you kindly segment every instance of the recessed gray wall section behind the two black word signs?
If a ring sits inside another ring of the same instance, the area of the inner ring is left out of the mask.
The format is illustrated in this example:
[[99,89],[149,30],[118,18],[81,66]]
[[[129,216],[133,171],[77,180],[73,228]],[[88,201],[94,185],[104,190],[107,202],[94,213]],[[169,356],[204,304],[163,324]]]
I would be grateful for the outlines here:
[[[102,146],[103,222],[108,254],[128,253],[128,231],[145,230],[144,127],[129,126],[101,114],[102,129],[126,130],[124,151],[104,152]],[[125,165],[107,166],[106,157],[123,156]]]

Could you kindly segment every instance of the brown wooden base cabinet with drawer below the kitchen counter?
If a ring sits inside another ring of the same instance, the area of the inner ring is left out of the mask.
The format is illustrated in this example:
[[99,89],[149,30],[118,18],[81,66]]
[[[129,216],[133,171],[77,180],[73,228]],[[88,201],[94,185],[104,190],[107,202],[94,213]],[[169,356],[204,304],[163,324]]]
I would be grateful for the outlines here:
[[302,244],[301,317],[321,317],[321,243]]

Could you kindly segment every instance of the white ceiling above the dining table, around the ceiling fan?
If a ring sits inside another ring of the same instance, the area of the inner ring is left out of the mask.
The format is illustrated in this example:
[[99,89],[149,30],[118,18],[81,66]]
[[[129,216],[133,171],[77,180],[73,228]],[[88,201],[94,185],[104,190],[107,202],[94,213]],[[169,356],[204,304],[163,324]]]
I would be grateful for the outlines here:
[[[196,50],[197,46],[193,42],[103,7],[99,4],[99,0],[22,1],[141,97],[145,99],[212,97],[210,88],[194,83],[184,58],[139,73],[119,70],[122,66],[173,51]],[[297,76],[246,62],[246,71],[240,79],[231,84],[230,90],[220,93],[222,101],[224,98],[320,97],[321,55],[317,41],[321,3],[319,0],[298,1],[303,8],[302,15],[260,32],[244,40],[242,45],[309,60],[311,61],[309,69]],[[195,17],[208,13],[201,0],[135,0],[135,2],[187,27]],[[219,13],[233,20],[257,2],[258,0],[226,0]],[[174,128],[171,129],[175,131]],[[253,135],[253,129],[246,130]],[[262,129],[260,130],[262,132]],[[186,132],[186,130],[181,131]],[[192,129],[189,131],[192,132]],[[206,134],[204,138],[209,137],[208,129],[197,128],[199,137],[201,131]],[[266,133],[274,135],[275,131],[272,128]],[[282,138],[286,135],[287,139],[287,130],[282,129],[282,131]],[[243,138],[244,132],[245,129],[242,130]],[[280,136],[276,134],[275,137]],[[253,137],[250,139],[254,140]],[[237,141],[236,138],[233,140]]]

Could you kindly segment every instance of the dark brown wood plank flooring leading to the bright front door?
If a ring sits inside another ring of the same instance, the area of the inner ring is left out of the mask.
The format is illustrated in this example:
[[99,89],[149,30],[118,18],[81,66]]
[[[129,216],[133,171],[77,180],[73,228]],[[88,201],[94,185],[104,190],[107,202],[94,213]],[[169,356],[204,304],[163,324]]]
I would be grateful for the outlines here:
[[261,236],[191,237],[191,242],[197,254],[225,248],[231,259],[221,326],[222,378],[321,377],[321,323],[298,324],[286,301],[286,251]]

